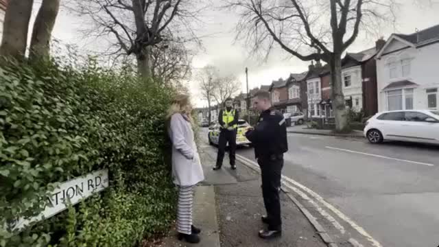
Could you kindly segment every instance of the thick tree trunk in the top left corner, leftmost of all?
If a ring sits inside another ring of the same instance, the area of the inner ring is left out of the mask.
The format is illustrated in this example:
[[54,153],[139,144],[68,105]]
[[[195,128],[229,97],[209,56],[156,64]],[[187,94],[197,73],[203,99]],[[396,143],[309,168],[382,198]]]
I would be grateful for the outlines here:
[[27,45],[27,30],[34,0],[9,1],[3,22],[0,56],[22,60]]

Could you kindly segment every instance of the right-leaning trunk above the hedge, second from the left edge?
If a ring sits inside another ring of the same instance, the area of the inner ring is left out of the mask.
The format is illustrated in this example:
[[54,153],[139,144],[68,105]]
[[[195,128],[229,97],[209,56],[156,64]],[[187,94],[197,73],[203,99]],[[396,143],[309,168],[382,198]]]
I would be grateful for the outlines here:
[[43,0],[36,15],[30,45],[30,60],[49,57],[50,38],[60,9],[60,0]]

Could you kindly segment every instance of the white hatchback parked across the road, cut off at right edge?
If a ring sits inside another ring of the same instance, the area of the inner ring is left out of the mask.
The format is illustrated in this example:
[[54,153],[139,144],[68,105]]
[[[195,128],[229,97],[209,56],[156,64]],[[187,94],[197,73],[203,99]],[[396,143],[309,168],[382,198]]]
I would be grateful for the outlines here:
[[394,110],[377,113],[366,122],[370,143],[386,140],[439,144],[438,110]]

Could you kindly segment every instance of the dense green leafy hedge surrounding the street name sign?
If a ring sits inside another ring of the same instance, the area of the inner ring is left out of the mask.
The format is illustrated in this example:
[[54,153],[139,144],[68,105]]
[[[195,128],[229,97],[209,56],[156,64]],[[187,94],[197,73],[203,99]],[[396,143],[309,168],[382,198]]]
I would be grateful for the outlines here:
[[[173,90],[129,67],[0,67],[0,246],[136,246],[174,220],[165,110]],[[38,215],[47,191],[97,169],[110,187],[58,215]]]

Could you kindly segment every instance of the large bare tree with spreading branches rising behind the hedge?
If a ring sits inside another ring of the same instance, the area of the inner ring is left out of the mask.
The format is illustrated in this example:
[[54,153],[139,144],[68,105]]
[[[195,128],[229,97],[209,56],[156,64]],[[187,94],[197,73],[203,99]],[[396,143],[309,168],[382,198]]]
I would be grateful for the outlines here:
[[[133,54],[143,78],[152,75],[152,47],[167,40],[167,33],[191,32],[197,1],[193,0],[81,0],[73,8],[91,17],[88,35],[112,35],[110,54]],[[195,36],[194,36],[195,37]],[[114,41],[114,42],[113,42]]]

